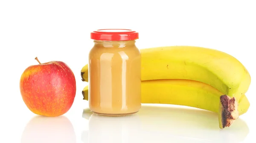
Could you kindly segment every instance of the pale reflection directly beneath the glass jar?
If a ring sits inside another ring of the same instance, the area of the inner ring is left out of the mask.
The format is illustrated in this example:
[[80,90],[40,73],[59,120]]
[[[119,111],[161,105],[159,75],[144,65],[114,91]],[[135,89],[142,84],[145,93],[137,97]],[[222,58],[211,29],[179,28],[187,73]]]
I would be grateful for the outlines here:
[[91,114],[88,138],[83,137],[83,141],[85,143],[134,143],[139,138],[137,135],[140,132],[140,126],[138,126],[140,124],[138,114],[120,117]]

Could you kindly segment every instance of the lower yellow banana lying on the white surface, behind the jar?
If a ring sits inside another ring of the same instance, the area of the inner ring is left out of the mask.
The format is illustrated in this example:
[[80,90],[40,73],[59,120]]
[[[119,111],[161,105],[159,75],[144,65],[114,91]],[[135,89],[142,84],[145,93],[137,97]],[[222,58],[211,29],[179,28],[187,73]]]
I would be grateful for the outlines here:
[[[146,80],[141,83],[141,98],[142,103],[159,103],[159,104],[173,104],[195,107],[204,109],[219,114],[219,127],[221,129],[229,127],[237,116],[247,112],[250,103],[247,97],[243,94],[238,102],[228,102],[231,99],[236,101],[236,98],[230,98],[206,83],[195,80]],[[82,91],[84,99],[88,100],[87,86]],[[223,98],[220,100],[220,98]],[[226,100],[230,98],[229,100]],[[223,102],[225,101],[226,102]],[[221,102],[221,103],[220,103]],[[235,106],[234,110],[223,106],[225,103],[230,103],[230,106]],[[229,118],[228,115],[237,116]]]

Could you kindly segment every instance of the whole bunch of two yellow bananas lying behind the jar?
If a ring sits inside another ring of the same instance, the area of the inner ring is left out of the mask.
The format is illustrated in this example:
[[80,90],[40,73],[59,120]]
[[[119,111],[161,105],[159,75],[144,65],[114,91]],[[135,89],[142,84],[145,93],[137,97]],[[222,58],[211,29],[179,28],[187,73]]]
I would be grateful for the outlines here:
[[[142,103],[190,106],[216,112],[219,127],[229,127],[250,103],[250,74],[235,57],[195,46],[141,49]],[[88,82],[88,65],[81,69]],[[82,94],[88,100],[88,87]]]

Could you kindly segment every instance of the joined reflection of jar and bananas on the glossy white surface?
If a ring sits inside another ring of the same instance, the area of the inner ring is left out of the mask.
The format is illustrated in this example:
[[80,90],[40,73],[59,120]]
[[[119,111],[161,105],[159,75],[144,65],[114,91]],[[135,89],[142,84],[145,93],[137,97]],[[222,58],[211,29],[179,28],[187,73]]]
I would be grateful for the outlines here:
[[218,127],[218,116],[197,109],[142,106],[125,117],[105,117],[85,109],[89,130],[84,143],[239,143],[247,136],[247,124],[237,119],[230,128]]

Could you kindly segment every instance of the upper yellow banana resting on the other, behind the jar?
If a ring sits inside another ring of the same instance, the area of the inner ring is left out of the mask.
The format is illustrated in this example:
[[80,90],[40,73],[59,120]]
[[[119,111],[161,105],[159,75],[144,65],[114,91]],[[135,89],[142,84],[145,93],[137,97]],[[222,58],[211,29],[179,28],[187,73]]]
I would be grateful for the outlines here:
[[[247,69],[239,60],[222,51],[195,46],[166,46],[141,49],[140,52],[142,81],[196,80],[237,100],[250,86]],[[87,65],[81,70],[81,76],[88,81]]]

